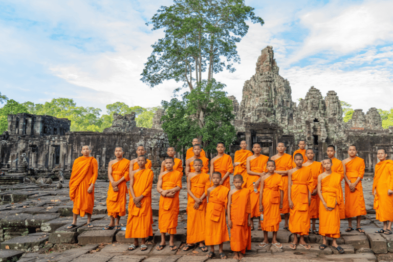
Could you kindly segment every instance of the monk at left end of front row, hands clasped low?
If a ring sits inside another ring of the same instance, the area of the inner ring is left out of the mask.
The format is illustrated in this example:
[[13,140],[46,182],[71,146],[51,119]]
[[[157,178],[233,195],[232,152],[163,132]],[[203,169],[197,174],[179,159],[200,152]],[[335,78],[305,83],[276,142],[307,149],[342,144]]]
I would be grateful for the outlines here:
[[141,250],[145,251],[147,249],[145,237],[153,235],[151,188],[154,173],[151,169],[145,168],[145,156],[139,156],[137,163],[139,168],[129,174],[130,199],[125,238],[134,238],[134,244],[130,245],[128,250],[135,250],[139,245],[138,238],[142,238]]

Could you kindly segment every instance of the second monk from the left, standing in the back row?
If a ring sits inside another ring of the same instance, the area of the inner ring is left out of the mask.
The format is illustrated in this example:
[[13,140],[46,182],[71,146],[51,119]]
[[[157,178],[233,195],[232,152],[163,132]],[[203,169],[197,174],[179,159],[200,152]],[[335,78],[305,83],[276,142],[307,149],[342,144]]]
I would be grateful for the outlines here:
[[[116,159],[108,164],[109,189],[106,198],[106,209],[111,217],[109,225],[104,230],[116,228],[120,230],[120,217],[125,215],[125,204],[127,203],[127,185],[129,181],[129,160],[123,158],[124,151],[122,147],[115,148]],[[116,219],[116,222],[115,222]]]

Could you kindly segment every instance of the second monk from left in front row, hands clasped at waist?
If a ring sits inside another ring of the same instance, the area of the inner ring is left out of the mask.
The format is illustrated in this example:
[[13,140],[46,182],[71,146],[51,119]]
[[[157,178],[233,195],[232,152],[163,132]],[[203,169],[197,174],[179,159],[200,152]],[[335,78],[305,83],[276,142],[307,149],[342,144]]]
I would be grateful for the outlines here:
[[157,182],[157,191],[161,194],[160,207],[158,210],[158,229],[161,232],[161,244],[157,250],[162,250],[165,244],[165,234],[169,234],[169,248],[174,251],[178,247],[173,243],[176,234],[179,216],[179,191],[182,189],[183,173],[173,170],[174,160],[165,157],[166,171],[160,173]]

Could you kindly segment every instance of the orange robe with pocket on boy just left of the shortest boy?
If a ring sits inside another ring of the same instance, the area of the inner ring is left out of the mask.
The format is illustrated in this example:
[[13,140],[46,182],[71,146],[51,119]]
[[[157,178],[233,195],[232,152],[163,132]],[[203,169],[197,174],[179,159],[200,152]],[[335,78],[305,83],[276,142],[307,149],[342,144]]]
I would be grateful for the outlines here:
[[229,241],[225,208],[228,204],[229,189],[219,185],[210,192],[206,207],[205,245],[219,245]]

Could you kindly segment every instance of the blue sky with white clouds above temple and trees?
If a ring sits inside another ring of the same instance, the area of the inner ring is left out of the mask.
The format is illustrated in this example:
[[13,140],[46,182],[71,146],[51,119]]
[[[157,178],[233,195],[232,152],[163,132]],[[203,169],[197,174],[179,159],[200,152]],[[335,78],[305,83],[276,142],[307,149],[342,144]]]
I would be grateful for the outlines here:
[[[72,98],[78,106],[117,101],[158,106],[182,83],[155,88],[141,73],[164,36],[145,24],[172,1],[0,2],[0,92],[18,102]],[[251,24],[237,45],[236,71],[215,75],[242,100],[260,51],[273,46],[292,100],[311,86],[367,112],[393,107],[393,1],[248,1],[265,25]],[[390,11],[389,11],[390,10]],[[0,104],[0,106],[2,106]]]

